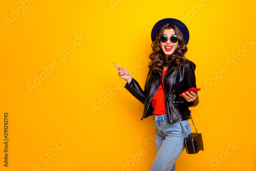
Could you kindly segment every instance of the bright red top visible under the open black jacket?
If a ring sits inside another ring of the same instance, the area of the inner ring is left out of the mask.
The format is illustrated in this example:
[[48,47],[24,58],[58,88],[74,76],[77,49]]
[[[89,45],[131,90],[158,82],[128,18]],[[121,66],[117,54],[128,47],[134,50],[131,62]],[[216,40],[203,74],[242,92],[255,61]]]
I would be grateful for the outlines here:
[[[167,70],[163,71],[163,78]],[[162,78],[162,83],[163,83],[163,78]],[[153,114],[154,115],[164,115],[166,114],[165,111],[165,105],[164,105],[164,91],[162,85],[160,85],[157,93],[153,97],[151,104],[153,106]]]

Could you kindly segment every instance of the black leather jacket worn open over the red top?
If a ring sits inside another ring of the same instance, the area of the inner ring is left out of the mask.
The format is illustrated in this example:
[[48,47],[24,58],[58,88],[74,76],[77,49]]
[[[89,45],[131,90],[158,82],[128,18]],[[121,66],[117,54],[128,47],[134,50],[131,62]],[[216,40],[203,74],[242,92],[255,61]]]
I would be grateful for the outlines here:
[[[194,107],[199,102],[198,97],[196,100],[188,102],[184,99],[184,97],[179,96],[182,92],[188,90],[189,88],[196,88],[195,69],[195,63],[186,59],[184,65],[182,65],[179,69],[169,68],[164,76],[164,88],[169,95],[169,97],[164,97],[165,109],[169,123],[178,122],[176,114],[181,120],[190,119],[190,111],[188,107]],[[160,80],[162,80],[162,72],[148,72],[144,91],[141,89],[139,83],[135,79],[132,79],[129,84],[125,84],[124,88],[144,104],[141,120],[153,115],[151,100],[161,85]],[[170,101],[173,102],[172,108],[167,98],[171,99]],[[173,110],[175,110],[176,114],[173,113]]]

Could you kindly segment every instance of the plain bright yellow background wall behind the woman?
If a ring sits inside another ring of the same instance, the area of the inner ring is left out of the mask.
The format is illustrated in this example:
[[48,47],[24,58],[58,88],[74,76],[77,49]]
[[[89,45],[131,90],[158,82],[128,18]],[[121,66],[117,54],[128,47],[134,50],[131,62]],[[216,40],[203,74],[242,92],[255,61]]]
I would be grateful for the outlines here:
[[[156,155],[152,118],[140,120],[143,105],[123,88],[112,62],[130,70],[143,88],[151,30],[166,17],[187,25],[186,57],[196,63],[202,88],[200,103],[191,110],[205,151],[184,151],[177,170],[253,170],[255,5],[249,0],[2,1],[1,170],[149,170]],[[41,82],[29,89],[35,77]]]

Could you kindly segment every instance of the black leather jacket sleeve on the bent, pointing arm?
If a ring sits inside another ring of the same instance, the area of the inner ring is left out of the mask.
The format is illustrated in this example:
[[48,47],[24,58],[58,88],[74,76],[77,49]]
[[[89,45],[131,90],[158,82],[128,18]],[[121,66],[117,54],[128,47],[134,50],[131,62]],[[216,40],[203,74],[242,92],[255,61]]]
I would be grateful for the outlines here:
[[[148,78],[148,74],[147,74],[147,78]],[[139,83],[134,78],[129,84],[126,83],[124,86],[126,90],[128,90],[136,99],[138,99],[143,104],[145,102],[145,96],[146,96],[147,78],[145,82],[144,91],[141,89]]]

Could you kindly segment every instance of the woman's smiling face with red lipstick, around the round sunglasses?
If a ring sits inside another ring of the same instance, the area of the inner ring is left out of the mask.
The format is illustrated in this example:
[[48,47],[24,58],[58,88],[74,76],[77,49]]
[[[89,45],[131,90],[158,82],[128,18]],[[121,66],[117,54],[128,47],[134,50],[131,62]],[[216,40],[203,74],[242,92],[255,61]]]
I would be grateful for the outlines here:
[[175,43],[170,41],[171,36],[173,36],[173,35],[177,36],[174,29],[165,29],[163,32],[163,35],[167,36],[168,39],[166,42],[160,41],[160,46],[161,46],[161,49],[164,52],[165,56],[167,57],[169,55],[172,55],[176,51],[179,41],[177,41]]

